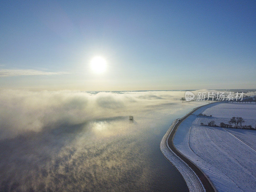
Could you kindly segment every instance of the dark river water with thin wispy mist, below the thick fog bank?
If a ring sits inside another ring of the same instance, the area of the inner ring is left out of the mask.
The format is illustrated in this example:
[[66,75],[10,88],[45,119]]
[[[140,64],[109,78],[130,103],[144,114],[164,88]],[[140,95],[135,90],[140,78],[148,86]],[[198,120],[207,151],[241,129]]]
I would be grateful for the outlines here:
[[[132,98],[141,99],[141,93],[134,94]],[[180,93],[150,94],[153,100],[131,100],[117,108],[116,101],[104,96],[105,108],[94,111],[97,118],[89,114],[83,123],[70,118],[65,124],[45,123],[36,131],[12,134],[6,128],[9,135],[0,140],[0,191],[188,191],[159,144],[174,119],[204,102],[182,103]]]

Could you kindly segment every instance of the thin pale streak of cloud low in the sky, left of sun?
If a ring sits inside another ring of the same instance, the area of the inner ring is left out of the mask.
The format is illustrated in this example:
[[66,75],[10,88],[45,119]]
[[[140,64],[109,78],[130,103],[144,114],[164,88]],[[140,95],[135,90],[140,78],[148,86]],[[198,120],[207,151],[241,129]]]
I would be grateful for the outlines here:
[[0,77],[8,76],[23,76],[23,75],[61,75],[68,74],[67,72],[46,72],[33,69],[2,69],[0,70]]

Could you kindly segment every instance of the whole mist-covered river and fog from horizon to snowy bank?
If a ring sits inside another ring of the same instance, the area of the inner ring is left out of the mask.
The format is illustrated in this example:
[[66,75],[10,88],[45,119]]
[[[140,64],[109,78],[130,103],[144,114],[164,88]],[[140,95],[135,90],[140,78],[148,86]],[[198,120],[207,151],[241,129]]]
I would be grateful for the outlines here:
[[[184,92],[0,92],[0,191],[188,191],[159,143]],[[134,121],[129,120],[134,116]]]

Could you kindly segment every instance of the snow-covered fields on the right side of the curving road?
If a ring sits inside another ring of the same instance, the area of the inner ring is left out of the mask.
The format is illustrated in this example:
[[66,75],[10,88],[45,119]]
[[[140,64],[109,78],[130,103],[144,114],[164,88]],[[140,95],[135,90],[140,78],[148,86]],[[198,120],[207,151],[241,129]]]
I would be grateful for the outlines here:
[[[212,115],[198,116],[198,114]],[[184,120],[173,139],[175,147],[212,180],[218,191],[255,192],[256,131],[201,126],[201,122],[228,121],[241,116],[256,124],[255,104],[213,103]]]

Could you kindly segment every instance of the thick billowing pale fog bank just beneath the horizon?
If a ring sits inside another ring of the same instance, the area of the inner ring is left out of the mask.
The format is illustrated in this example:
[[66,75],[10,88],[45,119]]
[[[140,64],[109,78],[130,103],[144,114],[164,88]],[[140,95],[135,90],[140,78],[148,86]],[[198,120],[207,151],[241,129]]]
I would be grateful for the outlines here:
[[[0,139],[45,127],[134,115],[177,102],[181,92],[0,91]],[[171,102],[171,103],[170,103]]]

